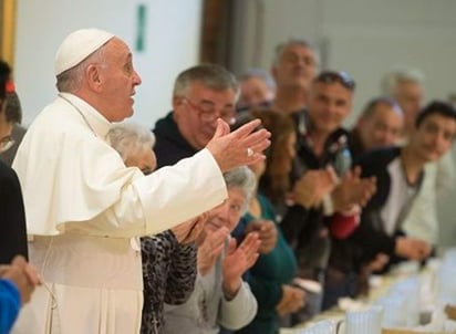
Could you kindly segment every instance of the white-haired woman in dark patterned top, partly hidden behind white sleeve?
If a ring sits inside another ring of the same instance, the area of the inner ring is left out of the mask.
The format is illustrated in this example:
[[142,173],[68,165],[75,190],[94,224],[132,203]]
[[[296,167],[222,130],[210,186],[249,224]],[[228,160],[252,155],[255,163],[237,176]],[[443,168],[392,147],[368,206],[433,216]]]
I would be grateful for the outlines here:
[[[134,123],[114,125],[108,132],[111,145],[127,167],[145,175],[154,171],[154,134]],[[156,236],[141,238],[144,306],[141,333],[163,333],[164,303],[184,303],[195,286],[195,239],[203,230],[205,215]],[[133,241],[133,244],[136,244]]]

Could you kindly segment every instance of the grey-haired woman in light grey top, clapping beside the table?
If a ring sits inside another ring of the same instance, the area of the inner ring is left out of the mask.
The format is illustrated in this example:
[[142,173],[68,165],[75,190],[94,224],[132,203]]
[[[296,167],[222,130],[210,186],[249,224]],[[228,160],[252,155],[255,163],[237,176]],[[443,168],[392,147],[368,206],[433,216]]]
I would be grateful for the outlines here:
[[185,304],[165,305],[165,333],[218,333],[220,326],[238,330],[257,313],[257,301],[241,276],[258,259],[258,233],[249,233],[239,247],[229,237],[247,210],[255,176],[247,167],[239,167],[224,174],[224,178],[228,200],[209,211],[197,240],[195,290]]

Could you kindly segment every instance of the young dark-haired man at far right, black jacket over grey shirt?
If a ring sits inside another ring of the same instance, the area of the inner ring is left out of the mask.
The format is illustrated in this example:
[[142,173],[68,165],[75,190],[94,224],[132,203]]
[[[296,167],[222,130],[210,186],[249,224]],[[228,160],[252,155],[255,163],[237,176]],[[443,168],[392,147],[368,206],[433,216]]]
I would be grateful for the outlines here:
[[427,242],[404,236],[403,222],[421,191],[424,166],[447,153],[455,136],[456,111],[449,104],[433,102],[418,114],[404,147],[375,150],[357,163],[364,176],[379,180],[377,192],[367,202],[361,225],[352,234],[364,257],[383,252],[423,260],[429,255]]

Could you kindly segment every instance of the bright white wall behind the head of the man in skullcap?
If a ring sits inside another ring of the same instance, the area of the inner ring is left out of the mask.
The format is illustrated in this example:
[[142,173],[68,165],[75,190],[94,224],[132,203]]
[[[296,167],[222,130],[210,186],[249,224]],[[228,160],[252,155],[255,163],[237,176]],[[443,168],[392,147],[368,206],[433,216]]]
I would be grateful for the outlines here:
[[[146,6],[144,52],[135,50],[137,6]],[[131,45],[143,79],[133,119],[149,128],[170,109],[176,75],[198,62],[201,0],[18,1],[14,79],[28,125],[55,96],[53,60],[66,34],[81,28],[112,31]]]

